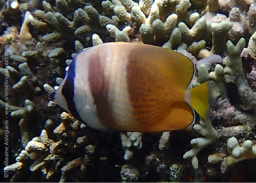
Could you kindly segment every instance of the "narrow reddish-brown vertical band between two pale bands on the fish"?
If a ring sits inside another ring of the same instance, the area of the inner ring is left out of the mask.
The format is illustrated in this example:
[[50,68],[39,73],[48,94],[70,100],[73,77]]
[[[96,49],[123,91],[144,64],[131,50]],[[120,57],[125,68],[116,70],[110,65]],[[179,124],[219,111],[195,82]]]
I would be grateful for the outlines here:
[[[102,48],[101,48],[102,49]],[[104,75],[104,65],[100,63],[100,56],[98,51],[88,60],[88,82],[91,88],[94,104],[97,109],[97,116],[100,118],[101,124],[107,129],[113,129],[114,120],[112,115],[112,106],[108,102],[109,83]]]

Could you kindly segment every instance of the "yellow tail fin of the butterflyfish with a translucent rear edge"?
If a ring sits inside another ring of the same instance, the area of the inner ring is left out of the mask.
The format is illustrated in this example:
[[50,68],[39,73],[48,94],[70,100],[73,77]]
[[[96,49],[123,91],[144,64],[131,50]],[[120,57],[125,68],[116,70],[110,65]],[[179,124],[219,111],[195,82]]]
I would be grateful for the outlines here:
[[188,90],[188,103],[201,117],[206,119],[218,95],[219,89],[214,81],[207,81]]

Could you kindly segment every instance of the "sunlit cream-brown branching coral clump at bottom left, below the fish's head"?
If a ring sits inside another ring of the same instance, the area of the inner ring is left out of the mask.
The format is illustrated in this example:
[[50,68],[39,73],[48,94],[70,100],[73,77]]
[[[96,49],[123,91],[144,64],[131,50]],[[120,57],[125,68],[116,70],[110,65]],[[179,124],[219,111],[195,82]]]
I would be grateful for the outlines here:
[[[61,119],[63,122],[57,128],[55,128],[54,133],[60,136],[62,140],[64,140],[63,138],[70,138],[71,134],[68,133],[68,129],[73,129],[74,133],[80,129],[80,127],[75,128],[76,121],[71,115],[62,113]],[[76,141],[69,141],[69,146],[72,147],[73,144],[73,148],[75,148],[75,143]],[[86,141],[84,141],[83,144],[87,144]],[[70,171],[75,169],[77,166],[81,166],[82,172],[86,171],[86,168],[84,169],[83,167],[90,164],[90,156],[92,156],[94,153],[95,146],[87,145],[85,147],[86,153],[84,158],[78,157],[70,160],[69,162],[65,160],[66,165],[63,162],[63,154],[61,153],[61,149],[63,148],[62,141],[54,142],[52,139],[49,139],[46,130],[42,130],[39,137],[34,137],[31,141],[28,141],[25,150],[22,150],[19,156],[16,158],[17,163],[6,166],[4,171],[8,173],[15,172],[11,181],[17,181],[18,177],[21,177],[20,172],[26,169],[28,166],[32,172],[40,170],[44,175],[44,179],[46,180],[50,180],[53,175],[58,173],[59,170],[62,172],[60,182],[66,181]]]

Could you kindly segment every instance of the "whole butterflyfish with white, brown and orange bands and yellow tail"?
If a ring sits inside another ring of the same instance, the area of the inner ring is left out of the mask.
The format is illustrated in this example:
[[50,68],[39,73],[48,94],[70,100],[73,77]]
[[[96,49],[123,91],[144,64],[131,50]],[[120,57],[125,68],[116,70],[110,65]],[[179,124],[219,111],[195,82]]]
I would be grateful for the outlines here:
[[50,100],[77,120],[103,131],[164,132],[209,118],[217,97],[214,81],[188,89],[194,63],[148,44],[107,42],[73,58]]

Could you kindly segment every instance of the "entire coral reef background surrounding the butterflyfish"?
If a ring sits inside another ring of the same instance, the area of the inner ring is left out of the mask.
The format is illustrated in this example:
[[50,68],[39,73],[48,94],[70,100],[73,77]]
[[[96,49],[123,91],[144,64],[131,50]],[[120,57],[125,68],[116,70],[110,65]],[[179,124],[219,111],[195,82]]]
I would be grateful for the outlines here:
[[[0,0],[0,7],[4,181],[256,180],[255,0]],[[164,133],[103,132],[49,100],[77,53],[115,41],[192,60],[190,88],[209,80],[219,88],[210,120],[196,114],[192,126]]]

